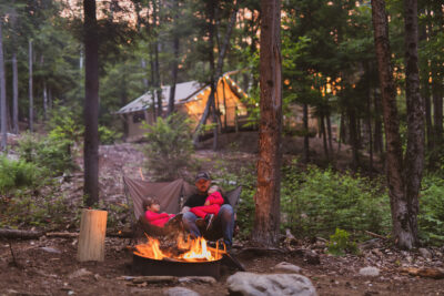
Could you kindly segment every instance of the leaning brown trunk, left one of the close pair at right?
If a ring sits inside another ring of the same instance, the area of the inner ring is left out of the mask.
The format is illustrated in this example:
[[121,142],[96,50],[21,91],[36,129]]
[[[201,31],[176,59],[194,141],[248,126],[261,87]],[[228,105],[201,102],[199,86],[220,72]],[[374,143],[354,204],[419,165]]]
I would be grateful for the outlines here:
[[389,195],[392,212],[393,236],[395,243],[403,248],[412,248],[415,244],[414,231],[408,223],[408,208],[403,180],[402,145],[400,121],[396,108],[396,89],[393,82],[391,51],[389,41],[389,22],[385,1],[372,0],[372,20],[374,42],[381,83],[384,129],[386,139],[386,170]]

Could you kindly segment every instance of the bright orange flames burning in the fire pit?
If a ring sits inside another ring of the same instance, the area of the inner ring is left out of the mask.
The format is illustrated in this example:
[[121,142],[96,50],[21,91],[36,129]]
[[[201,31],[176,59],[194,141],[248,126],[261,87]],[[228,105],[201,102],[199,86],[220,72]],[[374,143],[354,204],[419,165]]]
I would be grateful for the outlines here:
[[170,258],[180,262],[211,262],[220,259],[225,252],[225,249],[219,249],[219,245],[216,248],[208,246],[203,237],[195,239],[188,237],[188,239],[183,239],[182,236],[178,236],[176,247],[185,252],[180,255],[173,255],[168,251],[162,251],[158,239],[149,236],[147,238],[148,242],[145,244],[135,246],[134,254],[151,259],[161,261]]

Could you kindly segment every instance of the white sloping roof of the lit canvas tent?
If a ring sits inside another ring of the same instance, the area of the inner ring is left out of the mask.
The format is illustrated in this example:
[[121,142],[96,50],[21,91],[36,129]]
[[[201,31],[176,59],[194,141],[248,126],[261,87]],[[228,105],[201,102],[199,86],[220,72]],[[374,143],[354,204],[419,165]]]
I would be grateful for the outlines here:
[[[174,103],[181,103],[199,92],[203,85],[198,81],[189,81],[175,84]],[[162,86],[162,105],[168,105],[168,100],[170,99],[170,85]],[[117,114],[132,113],[138,111],[143,111],[149,109],[150,103],[152,103],[152,92],[148,91],[131,103],[122,106]]]

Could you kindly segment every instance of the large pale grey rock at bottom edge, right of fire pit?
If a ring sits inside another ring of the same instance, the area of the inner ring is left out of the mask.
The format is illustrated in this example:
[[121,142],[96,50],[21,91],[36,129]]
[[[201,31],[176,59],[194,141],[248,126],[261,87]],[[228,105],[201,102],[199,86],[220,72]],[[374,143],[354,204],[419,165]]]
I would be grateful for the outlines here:
[[226,279],[231,295],[243,296],[314,296],[309,278],[296,274],[253,274],[239,272]]

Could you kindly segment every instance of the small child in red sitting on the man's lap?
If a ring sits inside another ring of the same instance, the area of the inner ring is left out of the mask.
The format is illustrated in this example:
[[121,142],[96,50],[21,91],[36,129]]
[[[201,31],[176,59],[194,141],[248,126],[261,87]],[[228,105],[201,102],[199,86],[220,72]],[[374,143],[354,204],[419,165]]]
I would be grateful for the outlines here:
[[190,208],[190,212],[205,220],[206,229],[211,227],[214,217],[218,215],[221,205],[223,205],[224,200],[221,194],[221,190],[219,186],[213,185],[208,191],[209,196],[205,200],[205,203],[202,206],[194,206]]

